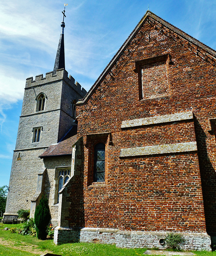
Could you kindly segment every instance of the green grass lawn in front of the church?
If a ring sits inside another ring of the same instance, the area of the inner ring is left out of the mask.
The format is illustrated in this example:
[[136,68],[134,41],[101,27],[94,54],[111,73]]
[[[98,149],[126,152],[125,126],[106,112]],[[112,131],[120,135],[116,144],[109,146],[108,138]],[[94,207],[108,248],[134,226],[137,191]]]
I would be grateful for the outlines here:
[[[74,243],[56,246],[52,239],[39,240],[33,236],[12,234],[5,227],[20,227],[22,224],[4,224],[0,228],[0,255],[4,256],[38,256],[45,253],[55,253],[62,256],[143,256],[147,249],[116,248],[115,245]],[[216,256],[216,252],[194,252],[198,256]]]

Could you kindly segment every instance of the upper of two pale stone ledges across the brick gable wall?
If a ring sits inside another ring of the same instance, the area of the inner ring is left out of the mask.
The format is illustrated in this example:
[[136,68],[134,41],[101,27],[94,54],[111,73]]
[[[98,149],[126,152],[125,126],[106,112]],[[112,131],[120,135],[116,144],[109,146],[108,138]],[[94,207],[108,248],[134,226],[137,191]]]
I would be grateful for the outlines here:
[[164,116],[153,116],[147,118],[140,118],[135,120],[123,121],[121,128],[129,128],[135,126],[145,126],[150,124],[161,124],[167,122],[175,122],[181,120],[193,119],[193,112],[182,112]]

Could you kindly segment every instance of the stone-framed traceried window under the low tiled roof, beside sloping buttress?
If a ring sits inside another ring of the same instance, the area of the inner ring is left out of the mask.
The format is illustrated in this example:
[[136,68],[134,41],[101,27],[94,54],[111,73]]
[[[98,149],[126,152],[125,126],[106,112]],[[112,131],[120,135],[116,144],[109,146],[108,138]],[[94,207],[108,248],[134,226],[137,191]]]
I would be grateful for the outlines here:
[[61,190],[63,185],[69,180],[70,176],[71,176],[71,166],[57,167],[55,169],[56,186],[55,186],[54,204],[59,203],[59,191]]

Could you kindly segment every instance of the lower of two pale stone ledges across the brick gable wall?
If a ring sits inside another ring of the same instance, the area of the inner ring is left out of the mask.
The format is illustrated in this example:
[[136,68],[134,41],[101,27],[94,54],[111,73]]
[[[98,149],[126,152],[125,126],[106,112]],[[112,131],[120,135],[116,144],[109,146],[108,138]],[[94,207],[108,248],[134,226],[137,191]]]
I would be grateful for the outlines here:
[[166,154],[166,153],[179,153],[196,151],[196,142],[183,142],[176,144],[163,144],[155,146],[145,146],[137,148],[123,148],[121,149],[119,157],[126,156],[147,156],[154,154]]

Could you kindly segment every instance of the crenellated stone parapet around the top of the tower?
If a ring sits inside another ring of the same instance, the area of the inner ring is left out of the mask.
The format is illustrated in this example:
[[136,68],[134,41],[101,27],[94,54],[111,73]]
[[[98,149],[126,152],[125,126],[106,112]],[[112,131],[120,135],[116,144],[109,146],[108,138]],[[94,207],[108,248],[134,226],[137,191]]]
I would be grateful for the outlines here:
[[69,86],[71,86],[77,93],[79,93],[83,97],[87,93],[84,88],[81,88],[81,85],[78,82],[75,82],[73,76],[68,76],[68,72],[64,68],[57,70],[56,73],[54,73],[53,71],[47,72],[45,77],[43,76],[43,74],[37,75],[35,77],[35,80],[33,80],[33,77],[27,78],[26,88],[57,82],[58,80],[64,80],[67,84],[69,84]]

